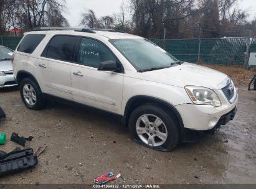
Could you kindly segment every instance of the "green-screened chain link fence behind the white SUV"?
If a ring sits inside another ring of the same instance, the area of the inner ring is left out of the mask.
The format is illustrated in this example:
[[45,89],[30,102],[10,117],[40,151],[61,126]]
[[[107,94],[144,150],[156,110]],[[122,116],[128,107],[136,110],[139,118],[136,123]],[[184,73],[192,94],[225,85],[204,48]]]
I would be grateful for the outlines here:
[[[0,45],[15,49],[22,37],[0,36]],[[249,44],[247,44],[248,40]],[[245,52],[256,53],[256,37],[222,37],[217,39],[149,39],[184,62],[244,65]]]

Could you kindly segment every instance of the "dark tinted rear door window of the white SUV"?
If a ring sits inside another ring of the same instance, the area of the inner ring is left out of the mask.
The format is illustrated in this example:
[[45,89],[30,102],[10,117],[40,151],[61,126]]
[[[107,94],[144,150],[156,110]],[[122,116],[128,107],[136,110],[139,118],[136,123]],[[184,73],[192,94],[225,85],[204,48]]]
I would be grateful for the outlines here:
[[47,50],[44,51],[44,56],[47,58],[72,62],[76,42],[77,37],[75,36],[56,35],[50,40],[49,45],[46,47]]

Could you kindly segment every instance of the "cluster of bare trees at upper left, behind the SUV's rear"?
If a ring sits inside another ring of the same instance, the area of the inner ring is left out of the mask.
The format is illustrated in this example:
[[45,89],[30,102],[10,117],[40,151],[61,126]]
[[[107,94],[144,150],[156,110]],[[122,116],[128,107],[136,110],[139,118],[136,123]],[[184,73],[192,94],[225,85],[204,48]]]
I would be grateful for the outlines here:
[[35,27],[69,25],[62,15],[65,0],[1,0],[2,2],[4,8],[0,22],[5,30],[13,27],[26,31]]

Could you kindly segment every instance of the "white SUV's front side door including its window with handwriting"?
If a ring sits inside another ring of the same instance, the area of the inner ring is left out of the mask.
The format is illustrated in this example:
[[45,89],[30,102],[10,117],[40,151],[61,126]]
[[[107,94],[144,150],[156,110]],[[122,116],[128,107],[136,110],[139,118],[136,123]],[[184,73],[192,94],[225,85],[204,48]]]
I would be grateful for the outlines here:
[[71,69],[73,100],[112,113],[120,113],[123,73],[98,71],[100,62],[118,62],[111,50],[98,40],[82,37],[75,59],[77,63]]

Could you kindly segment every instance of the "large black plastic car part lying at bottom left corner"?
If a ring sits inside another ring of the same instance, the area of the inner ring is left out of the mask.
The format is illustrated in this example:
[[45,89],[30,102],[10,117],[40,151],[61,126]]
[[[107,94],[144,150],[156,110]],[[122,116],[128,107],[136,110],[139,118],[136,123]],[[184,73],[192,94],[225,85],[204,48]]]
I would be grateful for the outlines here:
[[38,160],[33,155],[33,149],[15,149],[9,154],[2,152],[0,154],[0,177],[32,168],[37,164]]

